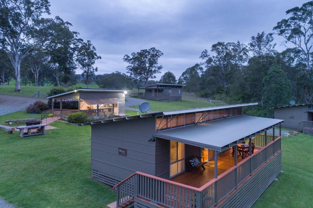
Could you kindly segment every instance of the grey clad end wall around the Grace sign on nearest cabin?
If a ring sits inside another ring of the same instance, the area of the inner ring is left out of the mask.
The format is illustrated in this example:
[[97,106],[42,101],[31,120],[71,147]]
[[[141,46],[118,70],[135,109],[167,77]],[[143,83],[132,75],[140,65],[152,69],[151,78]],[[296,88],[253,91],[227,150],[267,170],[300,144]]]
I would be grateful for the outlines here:
[[[155,117],[91,125],[91,169],[115,183],[136,171],[155,175],[156,143],[148,142],[154,132]],[[127,149],[127,156],[118,148]]]

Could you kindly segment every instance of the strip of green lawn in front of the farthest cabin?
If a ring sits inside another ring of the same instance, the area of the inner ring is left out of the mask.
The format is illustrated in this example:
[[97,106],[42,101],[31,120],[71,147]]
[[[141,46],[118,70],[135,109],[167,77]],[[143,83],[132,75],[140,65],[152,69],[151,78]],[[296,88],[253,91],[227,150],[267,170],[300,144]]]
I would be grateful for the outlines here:
[[[146,101],[151,104],[150,110],[153,110],[153,111],[202,108],[202,107],[210,107],[210,106],[216,105],[208,101],[192,100],[192,99],[182,99],[182,100],[170,101],[170,102],[159,102],[159,101],[153,101],[153,100],[146,100]],[[219,103],[218,105],[223,105],[223,104]],[[138,108],[138,106],[132,105],[130,106],[130,108]]]

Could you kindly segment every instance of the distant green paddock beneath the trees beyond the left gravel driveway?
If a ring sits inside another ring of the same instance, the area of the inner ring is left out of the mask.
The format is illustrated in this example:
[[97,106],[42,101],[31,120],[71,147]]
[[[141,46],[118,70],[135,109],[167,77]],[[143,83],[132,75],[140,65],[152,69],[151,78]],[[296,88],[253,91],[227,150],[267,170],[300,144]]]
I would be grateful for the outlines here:
[[[86,88],[87,85],[85,84],[77,84],[75,85],[79,88]],[[75,87],[75,86],[70,86]],[[42,86],[25,86],[21,85],[22,92],[15,92],[15,81],[11,81],[10,85],[2,85],[0,86],[0,94],[2,95],[11,95],[11,96],[20,96],[20,97],[33,97],[33,95],[37,94],[38,91],[40,91],[40,98],[45,98],[47,94],[49,93],[50,89],[52,88],[52,85],[45,85],[44,87]],[[96,85],[94,82],[90,83],[89,88],[99,88],[98,85]],[[34,96],[34,98],[38,98],[38,95]]]

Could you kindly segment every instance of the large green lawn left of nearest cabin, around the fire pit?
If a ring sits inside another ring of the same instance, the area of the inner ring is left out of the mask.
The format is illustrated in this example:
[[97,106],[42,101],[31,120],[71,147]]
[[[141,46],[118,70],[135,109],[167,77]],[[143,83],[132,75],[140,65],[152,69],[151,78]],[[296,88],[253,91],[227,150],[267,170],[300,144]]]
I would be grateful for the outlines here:
[[58,129],[26,138],[0,129],[0,197],[20,207],[105,207],[115,201],[110,186],[90,177],[90,126],[51,125]]

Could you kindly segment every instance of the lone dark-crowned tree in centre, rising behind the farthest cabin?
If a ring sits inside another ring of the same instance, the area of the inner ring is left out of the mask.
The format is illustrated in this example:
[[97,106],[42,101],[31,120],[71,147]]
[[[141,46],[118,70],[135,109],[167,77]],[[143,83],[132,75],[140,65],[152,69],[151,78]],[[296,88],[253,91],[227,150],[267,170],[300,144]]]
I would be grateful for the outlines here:
[[152,47],[148,50],[134,52],[131,57],[126,54],[123,61],[129,64],[126,67],[127,73],[130,73],[131,77],[137,82],[143,81],[147,85],[149,79],[155,79],[155,74],[161,73],[163,66],[158,65],[161,56],[163,56],[163,53]]

